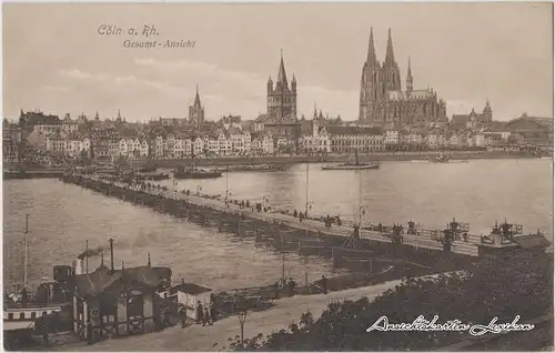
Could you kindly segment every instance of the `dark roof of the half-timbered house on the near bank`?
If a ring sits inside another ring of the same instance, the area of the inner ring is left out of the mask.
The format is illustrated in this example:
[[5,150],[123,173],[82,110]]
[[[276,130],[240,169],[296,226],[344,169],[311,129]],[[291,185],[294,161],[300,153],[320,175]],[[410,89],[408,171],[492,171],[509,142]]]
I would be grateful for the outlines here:
[[75,294],[81,297],[94,297],[122,280],[155,289],[160,285],[160,280],[168,273],[171,275],[169,268],[139,266],[115,270],[113,273],[99,268],[92,273],[75,275]]

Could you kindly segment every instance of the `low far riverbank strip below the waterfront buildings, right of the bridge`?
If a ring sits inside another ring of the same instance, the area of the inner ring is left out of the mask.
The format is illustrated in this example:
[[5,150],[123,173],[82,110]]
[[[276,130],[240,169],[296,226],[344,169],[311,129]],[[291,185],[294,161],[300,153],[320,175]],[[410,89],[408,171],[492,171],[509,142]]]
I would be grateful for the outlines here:
[[[433,154],[437,154],[434,152]],[[370,161],[413,161],[428,160],[430,152],[387,152],[374,154],[361,154],[359,159],[363,162]],[[445,152],[453,160],[478,160],[478,159],[537,159],[529,152]],[[297,164],[297,163],[340,163],[351,161],[354,155],[329,154],[329,155],[264,155],[264,157],[222,157],[211,159],[167,159],[167,160],[132,160],[132,168],[157,165],[159,168],[175,168],[178,165],[231,165],[231,164]]]

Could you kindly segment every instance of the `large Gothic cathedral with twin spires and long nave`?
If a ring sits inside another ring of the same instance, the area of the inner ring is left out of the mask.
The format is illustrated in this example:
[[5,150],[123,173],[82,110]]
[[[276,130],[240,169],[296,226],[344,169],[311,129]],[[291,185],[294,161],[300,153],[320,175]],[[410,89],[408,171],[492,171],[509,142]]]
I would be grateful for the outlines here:
[[376,59],[374,36],[372,29],[370,30],[369,53],[362,68],[359,120],[392,128],[447,121],[445,101],[437,99],[437,93],[433,89],[413,88],[411,59],[408,59],[405,90],[402,90],[391,30],[383,63]]

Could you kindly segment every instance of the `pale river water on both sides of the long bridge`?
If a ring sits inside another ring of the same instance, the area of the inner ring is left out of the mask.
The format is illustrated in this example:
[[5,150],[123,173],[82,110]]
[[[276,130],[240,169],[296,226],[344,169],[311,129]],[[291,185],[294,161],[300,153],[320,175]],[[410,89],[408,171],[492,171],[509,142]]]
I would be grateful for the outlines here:
[[[291,167],[284,172],[230,173],[218,180],[181,180],[179,190],[224,194],[274,209],[304,210],[306,175],[312,214],[352,219],[365,205],[364,222],[444,226],[453,216],[471,224],[472,233],[488,233],[495,220],[539,228],[553,239],[553,162],[551,160],[472,160],[427,164],[384,162],[376,171],[322,171],[321,165]],[[172,188],[173,181],[160,184]],[[362,188],[361,188],[362,185]],[[362,193],[359,191],[362,190]],[[361,195],[360,195],[361,194]],[[89,248],[108,248],[113,238],[117,268],[170,265],[174,279],[225,290],[266,284],[282,274],[282,254],[254,240],[218,233],[170,215],[103,196],[58,180],[3,182],[4,280],[20,281],[22,260],[18,241],[30,213],[30,280],[51,278],[52,265],[70,264]],[[100,258],[89,260],[92,271]],[[108,252],[104,262],[109,265]],[[333,275],[331,261],[285,255],[285,274],[303,283]],[[336,273],[336,272],[335,272]]]

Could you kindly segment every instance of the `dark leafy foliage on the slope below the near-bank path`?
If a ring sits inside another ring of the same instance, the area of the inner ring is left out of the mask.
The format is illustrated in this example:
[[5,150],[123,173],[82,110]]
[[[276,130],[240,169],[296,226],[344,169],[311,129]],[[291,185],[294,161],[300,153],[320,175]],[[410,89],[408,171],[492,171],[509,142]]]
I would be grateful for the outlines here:
[[[438,323],[500,323],[516,315],[537,317],[553,311],[553,259],[525,252],[485,258],[465,275],[442,275],[437,280],[405,279],[373,302],[367,297],[331,303],[317,320],[307,314],[291,325],[263,337],[245,340],[250,351],[427,351],[458,342],[461,332],[366,332],[379,317],[390,323],[412,323],[418,315]],[[232,341],[230,349],[240,351]]]

